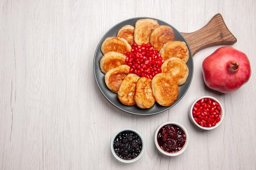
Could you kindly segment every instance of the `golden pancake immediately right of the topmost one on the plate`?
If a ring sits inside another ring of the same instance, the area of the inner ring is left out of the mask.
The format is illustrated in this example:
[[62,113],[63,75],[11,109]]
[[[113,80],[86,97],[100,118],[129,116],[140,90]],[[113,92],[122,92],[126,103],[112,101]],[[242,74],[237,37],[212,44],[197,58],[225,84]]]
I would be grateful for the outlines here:
[[166,42],[173,41],[173,29],[166,25],[159,25],[150,35],[150,43],[157,50],[161,50]]

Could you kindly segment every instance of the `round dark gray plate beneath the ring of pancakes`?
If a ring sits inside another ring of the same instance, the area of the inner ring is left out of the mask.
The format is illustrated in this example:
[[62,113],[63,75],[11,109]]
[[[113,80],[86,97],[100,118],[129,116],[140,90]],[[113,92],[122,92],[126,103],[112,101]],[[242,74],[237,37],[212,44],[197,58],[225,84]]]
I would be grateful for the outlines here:
[[192,53],[191,50],[188,46],[188,43],[186,42],[186,40],[184,39],[184,37],[181,35],[181,33],[179,31],[177,31],[173,26],[171,26],[170,24],[161,21],[161,20],[157,20],[155,18],[151,18],[154,20],[157,20],[159,25],[167,25],[170,26],[171,28],[173,28],[174,31],[174,41],[184,41],[186,42],[188,48],[189,48],[189,61],[187,62],[187,66],[189,68],[189,76],[187,78],[187,81],[184,85],[179,86],[179,95],[177,97],[177,100],[175,100],[175,102],[173,103],[173,105],[169,106],[169,107],[164,107],[161,106],[159,104],[157,104],[157,102],[155,102],[155,105],[153,105],[153,107],[149,108],[149,109],[140,109],[139,107],[137,107],[136,105],[134,106],[126,106],[123,105],[118,97],[116,93],[113,93],[110,91],[110,89],[108,89],[108,87],[106,86],[105,83],[105,74],[103,74],[101,72],[101,68],[100,68],[100,60],[101,57],[103,56],[102,52],[101,52],[101,45],[103,43],[103,41],[108,38],[108,37],[116,37],[117,36],[117,32],[118,30],[125,26],[125,25],[135,25],[135,22],[139,19],[144,19],[144,18],[150,18],[150,17],[136,17],[136,18],[131,18],[128,20],[125,20],[123,22],[120,22],[119,24],[113,26],[101,39],[101,41],[99,42],[97,48],[96,48],[96,52],[94,54],[94,65],[93,65],[93,70],[94,70],[94,76],[97,82],[97,85],[99,86],[99,89],[101,90],[101,93],[103,94],[103,96],[115,107],[117,107],[118,109],[125,111],[127,113],[131,113],[131,114],[135,114],[135,115],[152,115],[152,114],[156,114],[156,113],[161,113],[163,111],[166,111],[168,109],[170,109],[171,107],[173,107],[174,105],[177,104],[177,102],[179,102],[182,97],[186,94],[187,90],[189,89],[190,83],[192,81],[192,76],[193,76],[193,57],[192,57]]

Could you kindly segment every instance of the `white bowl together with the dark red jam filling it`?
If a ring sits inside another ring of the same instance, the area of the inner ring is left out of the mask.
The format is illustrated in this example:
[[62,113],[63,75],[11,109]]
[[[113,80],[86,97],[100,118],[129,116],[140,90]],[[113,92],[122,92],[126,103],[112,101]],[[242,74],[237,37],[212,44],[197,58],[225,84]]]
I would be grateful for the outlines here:
[[155,145],[159,152],[167,156],[182,154],[189,142],[189,134],[184,126],[176,122],[161,124],[155,132]]

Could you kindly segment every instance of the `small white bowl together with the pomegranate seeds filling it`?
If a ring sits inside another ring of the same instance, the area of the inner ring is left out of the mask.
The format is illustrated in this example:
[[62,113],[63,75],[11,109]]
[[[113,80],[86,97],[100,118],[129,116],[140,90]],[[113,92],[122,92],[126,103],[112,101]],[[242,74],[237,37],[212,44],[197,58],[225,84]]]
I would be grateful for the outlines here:
[[211,130],[220,125],[224,108],[214,97],[203,96],[195,100],[189,112],[189,119],[200,129]]

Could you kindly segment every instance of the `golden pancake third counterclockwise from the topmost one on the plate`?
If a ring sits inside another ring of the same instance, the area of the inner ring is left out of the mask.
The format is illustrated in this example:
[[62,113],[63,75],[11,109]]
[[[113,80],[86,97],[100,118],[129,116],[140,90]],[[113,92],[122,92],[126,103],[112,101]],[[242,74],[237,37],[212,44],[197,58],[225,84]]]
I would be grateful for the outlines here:
[[106,74],[112,68],[125,64],[126,56],[118,52],[108,52],[101,58],[101,71]]

